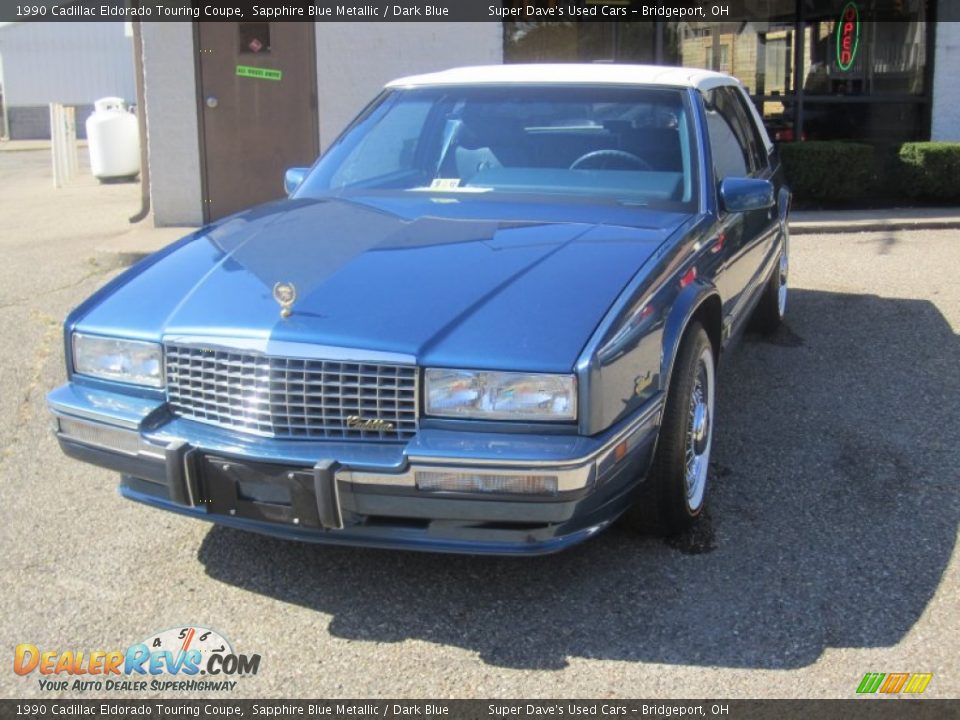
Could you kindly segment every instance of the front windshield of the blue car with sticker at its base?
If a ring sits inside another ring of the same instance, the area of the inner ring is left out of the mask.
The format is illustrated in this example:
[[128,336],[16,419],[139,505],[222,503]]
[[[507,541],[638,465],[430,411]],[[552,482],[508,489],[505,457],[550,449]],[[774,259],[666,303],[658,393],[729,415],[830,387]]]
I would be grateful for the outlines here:
[[669,88],[395,90],[354,122],[295,196],[537,194],[692,210],[691,124],[683,91]]

